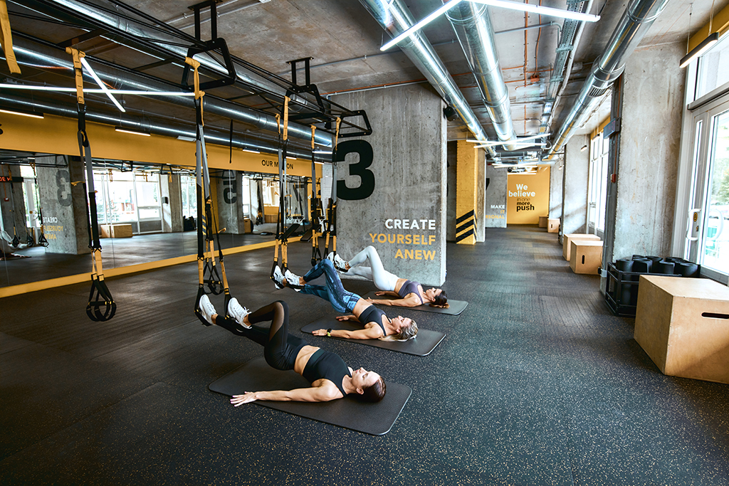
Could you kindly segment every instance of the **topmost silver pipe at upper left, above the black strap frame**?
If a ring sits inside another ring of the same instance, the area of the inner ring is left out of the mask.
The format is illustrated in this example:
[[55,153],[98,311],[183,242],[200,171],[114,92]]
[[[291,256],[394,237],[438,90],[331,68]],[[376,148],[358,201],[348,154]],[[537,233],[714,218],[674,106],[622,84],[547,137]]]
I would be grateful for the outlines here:
[[[97,7],[87,1],[52,0],[51,3],[57,4],[61,7],[65,7],[66,9],[73,12],[74,15],[89,17],[93,19],[95,23],[100,22],[103,23],[105,26],[108,26],[109,28],[125,32],[126,34],[139,39],[144,39],[147,42],[152,42],[153,44],[155,44],[156,52],[147,52],[147,54],[152,55],[155,58],[159,58],[159,52],[167,53],[168,58],[178,58],[179,63],[183,63],[184,58],[187,57],[187,47],[177,45],[180,42],[179,37],[171,35],[165,36],[161,29],[147,28],[147,26],[144,26],[144,24],[136,23],[128,18],[120,17],[113,11]],[[178,32],[181,36],[189,37],[189,34],[185,34],[183,31]],[[109,34],[109,39],[117,42],[117,44],[124,45],[123,40],[115,38],[113,34]],[[134,48],[139,49],[138,46]],[[198,60],[202,66],[210,69],[211,71],[215,71],[220,74],[227,74],[227,69],[221,65],[220,61],[216,58],[213,58],[207,53],[196,55],[195,60]],[[281,97],[284,97],[286,95],[286,87],[277,85],[275,82],[270,81],[270,79],[266,79],[265,77],[259,76],[254,72],[248,71],[246,69],[237,69],[236,77],[238,81],[243,82],[246,85],[257,87],[260,90],[265,90],[269,93],[273,93]],[[291,100],[295,103],[300,103],[301,105],[305,106],[305,108],[307,109],[319,108],[319,106],[317,106],[315,103],[309,101],[306,98],[303,98],[302,96],[291,95],[289,98],[291,98]],[[311,138],[311,129],[308,130],[308,137]],[[292,135],[298,136],[297,134]]]

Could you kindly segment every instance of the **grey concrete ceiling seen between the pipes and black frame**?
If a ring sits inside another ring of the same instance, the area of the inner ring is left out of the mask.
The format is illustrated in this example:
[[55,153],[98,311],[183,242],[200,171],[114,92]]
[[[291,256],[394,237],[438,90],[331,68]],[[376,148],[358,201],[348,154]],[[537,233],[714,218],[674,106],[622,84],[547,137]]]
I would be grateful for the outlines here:
[[[90,0],[89,4],[105,7],[119,15],[139,17],[120,6],[120,1]],[[162,20],[187,34],[194,35],[192,12],[187,7],[196,1],[179,0],[127,0],[125,4],[133,9]],[[535,4],[537,1],[530,1]],[[548,7],[565,9],[566,0],[541,0],[539,3]],[[50,44],[59,44],[89,28],[77,24],[73,15],[53,15],[52,9],[58,4],[52,0],[9,0],[10,22],[22,44],[20,36],[38,39]],[[420,19],[442,4],[440,0],[407,0],[413,17]],[[727,1],[718,1],[714,11],[725,7]],[[590,13],[601,15],[598,23],[587,23],[580,44],[574,55],[569,85],[564,89],[564,97],[555,110],[554,133],[559,128],[564,113],[569,110],[582,82],[588,76],[590,66],[604,50],[618,20],[625,11],[628,1],[594,0]],[[668,3],[658,20],[644,36],[641,46],[687,42],[687,36],[694,34],[709,20],[712,9],[711,1],[694,2],[693,0],[672,0]],[[693,15],[689,15],[693,11]],[[217,5],[217,34],[227,42],[231,54],[246,60],[260,68],[291,79],[290,67],[286,61],[311,57],[311,82],[316,84],[322,95],[342,93],[351,90],[374,89],[386,85],[397,85],[409,82],[426,82],[424,75],[410,63],[410,60],[397,48],[383,53],[381,44],[389,40],[381,26],[370,16],[357,0],[225,0]],[[491,8],[491,21],[496,32],[496,46],[504,81],[509,88],[512,119],[518,135],[537,133],[539,118],[542,115],[545,86],[552,75],[555,62],[555,50],[558,46],[558,26],[547,26],[539,29],[514,31],[539,23],[554,22],[561,26],[563,20],[540,17],[506,9]],[[55,17],[58,21],[46,21]],[[203,13],[201,38],[209,39],[211,23]],[[510,31],[501,33],[502,31]],[[488,136],[494,137],[486,109],[481,102],[475,83],[470,74],[467,60],[458,43],[453,28],[444,17],[434,21],[424,29],[424,34],[434,45],[437,55],[443,60],[448,71],[461,88],[465,98],[486,130]],[[135,68],[157,60],[154,56],[143,54],[139,50],[119,47],[109,40],[109,36],[99,36],[77,44],[91,58],[106,60],[108,63]],[[23,56],[18,56],[23,74],[9,74],[7,65],[0,66],[0,77],[5,82],[45,83],[47,85],[71,86],[69,73],[59,75],[58,69],[44,66],[23,66]],[[678,60],[666,60],[667,63],[678,63]],[[179,83],[179,65],[160,66],[144,72],[159,79],[168,79]],[[303,84],[303,71],[299,74],[299,84]],[[93,86],[89,86],[93,87]],[[222,99],[235,98],[236,103],[243,103],[255,109],[270,109],[271,101],[246,95],[233,87],[211,90],[211,94]],[[608,94],[609,95],[609,94]],[[72,106],[73,95],[45,95],[52,103],[66,103]],[[144,98],[124,97],[130,113],[137,117],[148,117],[155,120],[193,121],[190,107],[175,103],[160,103]],[[71,101],[71,103],[69,103]],[[113,109],[103,96],[91,96],[89,110],[95,109],[98,103],[105,109]],[[275,104],[275,103],[274,103]],[[609,103],[601,103],[601,108],[588,124],[597,124],[607,117]],[[211,115],[206,122],[211,130],[218,128],[221,132],[228,128],[229,119]],[[582,131],[589,131],[593,126],[583,126]],[[260,130],[248,125],[236,126],[237,135],[275,138],[275,133]],[[451,139],[465,138],[466,131],[460,120],[449,122],[448,136]]]

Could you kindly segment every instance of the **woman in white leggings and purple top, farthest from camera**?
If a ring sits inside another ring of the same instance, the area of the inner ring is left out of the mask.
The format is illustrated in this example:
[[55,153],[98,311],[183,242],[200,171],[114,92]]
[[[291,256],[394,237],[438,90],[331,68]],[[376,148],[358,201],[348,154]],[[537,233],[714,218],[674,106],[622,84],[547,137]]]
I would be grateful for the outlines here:
[[[367,299],[370,302],[381,305],[397,305],[399,307],[416,307],[429,304],[431,307],[448,307],[448,296],[443,289],[427,289],[414,281],[399,278],[389,273],[382,266],[382,260],[374,246],[367,246],[348,262],[345,262],[337,254],[328,254],[327,258],[332,260],[337,270],[347,275],[359,275],[375,283],[375,287],[381,291],[378,295],[389,295],[399,299]],[[360,267],[365,261],[370,260],[371,267]]]

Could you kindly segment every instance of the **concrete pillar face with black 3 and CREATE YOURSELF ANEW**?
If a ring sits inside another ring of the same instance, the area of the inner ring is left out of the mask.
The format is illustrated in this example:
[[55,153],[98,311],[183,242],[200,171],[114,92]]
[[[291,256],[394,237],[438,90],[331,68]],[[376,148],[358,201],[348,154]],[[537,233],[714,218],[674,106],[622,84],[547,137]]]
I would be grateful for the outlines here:
[[[332,101],[350,109],[366,110],[373,126],[373,134],[364,140],[373,146],[373,163],[368,170],[375,177],[375,191],[364,200],[338,201],[338,253],[348,258],[364,246],[373,245],[385,268],[395,275],[429,285],[443,284],[446,233],[443,101],[426,85],[348,93],[334,96]],[[348,175],[349,165],[357,162],[359,157],[351,154],[338,164],[337,179],[345,181],[348,187],[359,187],[359,176]],[[394,220],[399,220],[401,228],[394,227]],[[412,227],[413,222],[417,229]],[[408,238],[410,244],[406,240],[399,243],[398,235]],[[425,245],[413,244],[423,239]]]

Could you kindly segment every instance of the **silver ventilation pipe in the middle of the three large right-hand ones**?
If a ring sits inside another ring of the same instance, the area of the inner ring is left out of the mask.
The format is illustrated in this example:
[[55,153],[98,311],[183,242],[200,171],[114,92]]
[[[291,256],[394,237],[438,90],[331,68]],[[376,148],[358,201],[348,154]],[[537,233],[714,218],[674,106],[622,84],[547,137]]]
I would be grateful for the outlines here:
[[[445,12],[445,16],[451,20],[451,26],[461,42],[468,64],[476,77],[476,84],[481,91],[483,104],[494,124],[496,135],[500,141],[516,141],[509,90],[499,66],[494,28],[491,27],[488,7],[464,1]],[[504,148],[511,151],[517,146],[506,144]]]

